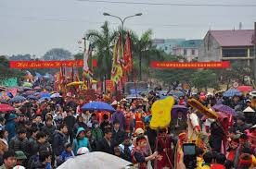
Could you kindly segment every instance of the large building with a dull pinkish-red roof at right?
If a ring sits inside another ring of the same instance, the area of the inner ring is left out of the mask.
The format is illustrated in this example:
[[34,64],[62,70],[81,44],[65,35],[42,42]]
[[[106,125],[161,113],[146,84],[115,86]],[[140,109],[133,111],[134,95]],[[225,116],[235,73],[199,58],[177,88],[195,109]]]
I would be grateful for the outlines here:
[[254,30],[209,30],[198,51],[198,61],[244,62],[252,64]]

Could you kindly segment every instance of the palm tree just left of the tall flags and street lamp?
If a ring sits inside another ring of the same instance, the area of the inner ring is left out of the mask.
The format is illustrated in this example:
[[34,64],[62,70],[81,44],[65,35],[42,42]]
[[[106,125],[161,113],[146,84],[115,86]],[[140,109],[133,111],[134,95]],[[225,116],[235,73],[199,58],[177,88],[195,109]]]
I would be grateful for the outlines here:
[[99,30],[88,30],[86,38],[96,48],[97,68],[96,75],[98,78],[110,78],[112,65],[112,48],[113,42],[116,39],[118,32],[109,30],[107,21],[100,27]]

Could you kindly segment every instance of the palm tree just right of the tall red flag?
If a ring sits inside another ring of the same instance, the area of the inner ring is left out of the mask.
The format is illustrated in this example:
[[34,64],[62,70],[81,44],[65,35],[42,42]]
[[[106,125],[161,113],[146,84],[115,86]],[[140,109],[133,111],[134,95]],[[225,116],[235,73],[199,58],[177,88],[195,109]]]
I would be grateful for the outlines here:
[[[139,38],[137,35],[135,35],[134,32],[131,33],[132,42],[133,42],[133,52],[135,56],[138,56],[139,58],[139,79],[142,79],[142,59],[146,61],[146,63],[150,63],[150,57],[147,55],[148,51],[152,49],[152,30],[145,31],[141,37]],[[143,57],[144,55],[144,57]],[[147,65],[147,69],[148,69]]]

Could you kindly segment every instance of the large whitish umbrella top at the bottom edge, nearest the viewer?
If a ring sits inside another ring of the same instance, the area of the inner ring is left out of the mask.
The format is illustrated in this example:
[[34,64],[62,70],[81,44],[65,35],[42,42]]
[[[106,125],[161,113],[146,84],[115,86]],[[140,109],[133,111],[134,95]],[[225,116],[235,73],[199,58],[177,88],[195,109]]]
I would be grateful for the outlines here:
[[122,169],[127,168],[130,164],[132,163],[109,153],[95,151],[69,159],[67,162],[59,165],[58,169]]

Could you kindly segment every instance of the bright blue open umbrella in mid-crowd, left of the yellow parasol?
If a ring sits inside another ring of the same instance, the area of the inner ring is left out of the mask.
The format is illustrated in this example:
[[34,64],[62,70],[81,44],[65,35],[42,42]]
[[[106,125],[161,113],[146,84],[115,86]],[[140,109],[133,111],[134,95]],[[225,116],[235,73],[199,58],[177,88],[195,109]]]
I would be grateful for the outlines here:
[[92,102],[92,103],[85,103],[82,106],[82,110],[102,110],[108,112],[115,112],[116,110],[109,105],[109,103],[103,102]]

